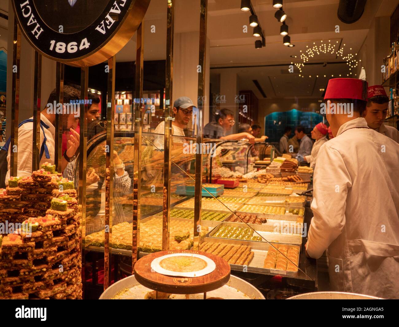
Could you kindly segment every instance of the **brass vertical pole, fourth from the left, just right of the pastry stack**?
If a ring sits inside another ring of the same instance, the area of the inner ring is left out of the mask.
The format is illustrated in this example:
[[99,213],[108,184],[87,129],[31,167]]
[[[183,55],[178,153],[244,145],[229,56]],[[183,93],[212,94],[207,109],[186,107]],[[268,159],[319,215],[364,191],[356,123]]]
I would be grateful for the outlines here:
[[[87,85],[89,81],[89,67],[80,70],[80,98],[87,100]],[[82,226],[82,283],[85,285],[85,236],[86,236],[86,161],[87,161],[87,101],[79,105],[80,136],[79,136],[79,212]],[[57,133],[57,131],[56,131]],[[83,294],[85,289],[83,287]]]

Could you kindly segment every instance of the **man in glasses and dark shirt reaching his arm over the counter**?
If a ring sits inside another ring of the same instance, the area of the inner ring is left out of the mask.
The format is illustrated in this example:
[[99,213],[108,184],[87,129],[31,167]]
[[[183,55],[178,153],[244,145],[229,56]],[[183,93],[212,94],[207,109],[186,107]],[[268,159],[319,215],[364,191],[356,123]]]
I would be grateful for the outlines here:
[[203,137],[221,140],[247,139],[249,143],[255,143],[255,137],[247,132],[228,135],[234,124],[235,120],[233,111],[227,108],[220,109],[215,113],[215,121],[207,123],[203,128]]

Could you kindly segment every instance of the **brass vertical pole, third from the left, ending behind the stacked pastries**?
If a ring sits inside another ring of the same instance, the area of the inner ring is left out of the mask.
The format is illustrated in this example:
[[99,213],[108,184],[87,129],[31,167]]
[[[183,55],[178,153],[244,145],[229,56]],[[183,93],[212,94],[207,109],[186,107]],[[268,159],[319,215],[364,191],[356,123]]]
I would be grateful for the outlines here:
[[[55,90],[57,92],[57,101],[58,103],[64,103],[64,64],[57,61],[55,75]],[[87,88],[86,88],[87,89]],[[83,95],[82,95],[83,96]],[[83,105],[80,105],[79,108],[83,108]],[[61,172],[61,163],[62,163],[62,114],[58,113],[55,115],[55,155],[54,155],[54,164],[55,169],[58,172]],[[81,125],[82,126],[82,125]]]

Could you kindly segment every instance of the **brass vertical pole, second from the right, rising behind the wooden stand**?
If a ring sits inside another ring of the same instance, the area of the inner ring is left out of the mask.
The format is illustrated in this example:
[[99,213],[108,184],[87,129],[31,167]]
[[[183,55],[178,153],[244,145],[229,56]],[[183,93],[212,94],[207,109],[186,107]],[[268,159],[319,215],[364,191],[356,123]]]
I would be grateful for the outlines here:
[[162,214],[162,250],[169,250],[170,222],[170,160],[172,134],[172,84],[173,84],[173,32],[174,0],[168,0],[166,30],[166,79],[165,79],[165,136],[164,136],[164,188]]

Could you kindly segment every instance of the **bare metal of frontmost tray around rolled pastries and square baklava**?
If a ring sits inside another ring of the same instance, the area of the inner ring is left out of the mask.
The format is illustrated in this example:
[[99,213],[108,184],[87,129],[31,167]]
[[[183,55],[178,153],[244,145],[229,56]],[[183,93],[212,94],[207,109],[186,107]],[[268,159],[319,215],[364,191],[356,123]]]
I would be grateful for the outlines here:
[[[267,256],[267,252],[269,251],[269,248],[271,246],[267,242],[234,240],[234,239],[230,239],[230,238],[213,238],[213,237],[208,237],[208,236],[205,236],[205,238],[203,239],[203,242],[251,246],[251,251],[254,253],[254,256],[253,256],[253,259],[251,260],[249,266],[246,268],[247,272],[261,273],[261,274],[265,274],[265,275],[287,275],[287,276],[292,276],[292,277],[298,277],[299,271],[298,272],[287,272],[285,270],[263,268],[263,265],[265,263],[265,259]],[[296,248],[298,248],[298,250],[300,250],[299,246],[297,246],[297,245],[273,243],[273,246],[275,246],[276,248],[278,248],[280,245],[286,245],[286,246],[288,246],[288,249],[296,247]],[[296,264],[296,266],[298,266],[298,264],[299,264],[300,255],[301,254],[299,254],[299,256],[298,256],[298,262],[294,262],[294,264]],[[230,264],[230,268],[231,268],[231,270],[236,270],[236,271],[242,272],[244,269],[244,266]],[[300,273],[300,274],[303,276],[302,273]],[[308,279],[306,276],[303,276],[302,278]]]

